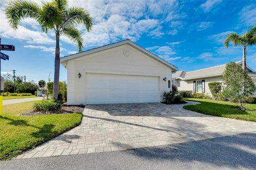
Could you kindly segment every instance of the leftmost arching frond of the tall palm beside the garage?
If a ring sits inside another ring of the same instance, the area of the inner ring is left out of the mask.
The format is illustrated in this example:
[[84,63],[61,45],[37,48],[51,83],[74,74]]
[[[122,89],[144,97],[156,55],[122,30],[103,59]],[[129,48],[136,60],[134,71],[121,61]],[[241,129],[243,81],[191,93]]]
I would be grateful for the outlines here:
[[41,8],[31,1],[11,1],[6,7],[5,14],[10,26],[17,29],[21,19],[30,17],[38,20]]

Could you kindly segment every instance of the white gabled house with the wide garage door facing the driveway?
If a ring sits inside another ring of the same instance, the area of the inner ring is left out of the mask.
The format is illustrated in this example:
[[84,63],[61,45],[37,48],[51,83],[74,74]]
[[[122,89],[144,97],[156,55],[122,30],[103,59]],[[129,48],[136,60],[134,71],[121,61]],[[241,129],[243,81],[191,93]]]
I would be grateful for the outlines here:
[[129,39],[68,55],[68,104],[160,102],[178,68]]

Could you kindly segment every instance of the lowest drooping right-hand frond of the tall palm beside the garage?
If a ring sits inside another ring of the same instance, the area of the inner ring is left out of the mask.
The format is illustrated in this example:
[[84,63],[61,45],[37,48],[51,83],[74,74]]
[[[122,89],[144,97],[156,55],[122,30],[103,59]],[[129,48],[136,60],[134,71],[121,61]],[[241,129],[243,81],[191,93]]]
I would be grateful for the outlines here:
[[60,32],[69,37],[73,42],[77,43],[78,51],[81,52],[83,48],[83,38],[80,31],[74,26],[65,27]]

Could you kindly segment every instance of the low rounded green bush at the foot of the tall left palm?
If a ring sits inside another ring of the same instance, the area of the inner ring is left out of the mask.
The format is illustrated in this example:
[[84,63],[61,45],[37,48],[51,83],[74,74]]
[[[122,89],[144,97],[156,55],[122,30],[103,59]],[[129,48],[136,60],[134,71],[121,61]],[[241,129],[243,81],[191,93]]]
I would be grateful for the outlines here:
[[62,107],[62,103],[54,100],[41,100],[34,103],[33,109],[35,111],[57,111]]

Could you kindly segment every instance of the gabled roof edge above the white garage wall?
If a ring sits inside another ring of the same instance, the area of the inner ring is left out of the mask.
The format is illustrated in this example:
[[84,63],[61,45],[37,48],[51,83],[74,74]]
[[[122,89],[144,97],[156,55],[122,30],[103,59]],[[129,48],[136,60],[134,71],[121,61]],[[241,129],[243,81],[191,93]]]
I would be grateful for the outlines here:
[[174,66],[173,64],[163,60],[162,58],[160,58],[159,56],[151,53],[150,51],[146,50],[145,48],[139,46],[138,44],[135,44],[133,43],[132,41],[130,41],[130,39],[125,39],[123,41],[120,41],[120,42],[116,42],[116,43],[112,43],[112,44],[108,44],[108,45],[104,45],[104,46],[100,46],[100,47],[97,47],[97,48],[92,48],[90,50],[86,50],[86,51],[82,51],[82,52],[79,52],[79,53],[76,53],[76,54],[71,54],[71,55],[67,55],[67,56],[64,56],[62,58],[60,58],[60,62],[61,63],[64,63],[66,61],[69,61],[69,60],[73,60],[73,59],[77,59],[77,58],[80,58],[82,56],[85,56],[85,55],[89,55],[89,54],[92,54],[92,53],[96,53],[96,52],[100,52],[100,51],[103,51],[103,50],[108,50],[110,48],[114,48],[114,47],[117,47],[117,46],[121,46],[121,45],[124,45],[124,44],[129,44],[131,45],[132,47],[136,48],[137,50],[145,53],[146,55],[150,56],[151,58],[157,60],[158,62],[161,62],[162,64],[164,64],[165,66],[167,67],[170,67],[171,69],[173,69],[174,71],[177,71],[178,70],[178,67]]

